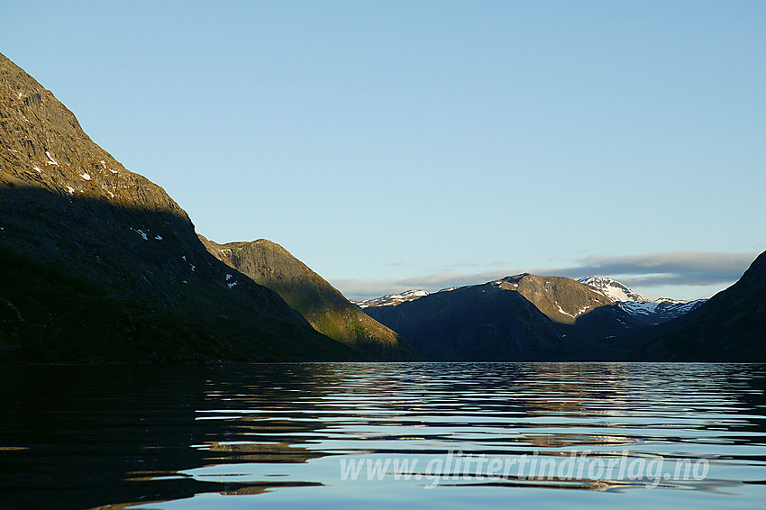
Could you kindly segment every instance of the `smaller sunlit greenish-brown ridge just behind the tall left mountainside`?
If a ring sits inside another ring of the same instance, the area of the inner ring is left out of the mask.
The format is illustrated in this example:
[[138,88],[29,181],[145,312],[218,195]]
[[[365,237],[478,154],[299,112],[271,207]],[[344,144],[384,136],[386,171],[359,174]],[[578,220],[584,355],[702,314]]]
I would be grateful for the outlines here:
[[417,358],[397,332],[352,305],[340,291],[276,242],[260,239],[218,244],[203,236],[200,239],[226,265],[277,292],[316,331],[354,345],[375,358]]

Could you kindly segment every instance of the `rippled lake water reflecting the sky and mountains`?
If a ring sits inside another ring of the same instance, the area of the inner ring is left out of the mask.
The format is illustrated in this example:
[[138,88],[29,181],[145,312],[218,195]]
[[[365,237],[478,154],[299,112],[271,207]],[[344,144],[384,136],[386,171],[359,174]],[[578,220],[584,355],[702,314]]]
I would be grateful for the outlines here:
[[0,381],[3,508],[766,503],[766,365],[5,367]]

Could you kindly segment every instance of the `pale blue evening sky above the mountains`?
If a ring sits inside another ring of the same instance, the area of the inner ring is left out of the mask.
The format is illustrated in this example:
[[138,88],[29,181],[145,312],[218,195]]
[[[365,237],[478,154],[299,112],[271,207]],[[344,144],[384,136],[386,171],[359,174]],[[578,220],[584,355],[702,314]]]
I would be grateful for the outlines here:
[[766,3],[38,2],[0,51],[215,241],[350,297],[521,271],[652,296],[766,249]]

